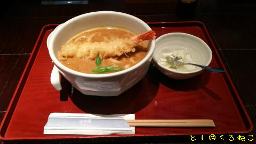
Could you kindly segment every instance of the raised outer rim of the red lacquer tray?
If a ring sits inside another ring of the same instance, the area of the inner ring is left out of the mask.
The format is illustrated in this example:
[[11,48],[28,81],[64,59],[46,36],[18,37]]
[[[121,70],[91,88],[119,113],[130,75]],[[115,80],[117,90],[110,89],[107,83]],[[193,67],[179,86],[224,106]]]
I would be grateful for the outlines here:
[[[217,58],[220,62],[220,65],[222,66],[222,68],[227,71],[219,53],[218,53],[218,50],[216,49],[213,41],[212,41],[212,38],[206,28],[206,26],[204,25],[203,22],[201,21],[175,21],[175,22],[147,22],[148,25],[164,25],[164,24],[167,24],[167,25],[172,25],[172,24],[179,24],[179,23],[182,23],[183,25],[186,25],[188,23],[192,23],[194,25],[201,25],[202,29],[204,30],[204,33],[206,35],[206,39],[207,41],[209,41],[209,43],[211,44],[211,46],[213,47],[214,49],[214,52],[215,54],[217,55]],[[10,101],[10,104],[9,106],[7,107],[6,109],[6,113],[2,119],[2,122],[1,122],[1,125],[0,125],[0,140],[47,140],[47,139],[52,139],[52,140],[58,140],[58,139],[98,139],[98,138],[120,138],[120,137],[126,137],[126,138],[137,138],[137,137],[157,137],[157,136],[181,136],[181,135],[188,135],[187,133],[179,133],[179,134],[170,134],[170,133],[161,133],[161,134],[122,134],[122,135],[94,135],[94,137],[91,137],[91,135],[80,135],[77,137],[74,137],[74,135],[65,135],[65,136],[46,136],[46,137],[26,137],[26,138],[21,138],[21,137],[11,137],[11,138],[6,138],[6,137],[3,137],[2,136],[2,129],[4,127],[4,124],[6,123],[7,121],[7,118],[11,118],[12,115],[10,114],[11,111],[13,112],[13,110],[15,110],[15,107],[17,105],[17,102],[19,100],[19,98],[17,98],[17,94],[19,93],[19,91],[22,91],[23,90],[23,87],[20,87],[22,84],[25,85],[26,83],[26,80],[27,80],[27,75],[30,73],[30,70],[31,70],[31,66],[33,66],[34,64],[34,60],[36,58],[36,55],[37,55],[37,52],[39,50],[39,47],[41,45],[41,42],[43,41],[43,38],[44,38],[44,35],[46,33],[47,30],[50,30],[51,27],[57,27],[59,24],[48,24],[48,25],[45,25],[42,27],[39,35],[38,35],[38,38],[37,38],[37,41],[33,47],[33,51],[31,52],[30,54],[30,57],[27,61],[27,64],[26,64],[26,67],[24,68],[23,70],[23,73],[20,77],[20,80],[19,80],[19,83],[13,93],[13,96],[12,96],[12,99]],[[151,27],[151,26],[150,26]],[[154,28],[154,27],[151,27],[151,28]],[[236,99],[237,99],[237,102],[239,104],[239,108],[241,109],[242,108],[242,111],[244,112],[243,114],[245,115],[246,117],[246,120],[248,121],[248,125],[249,125],[249,129],[245,130],[245,131],[236,131],[235,133],[249,133],[252,131],[253,129],[253,124],[252,124],[252,121],[251,121],[251,118],[250,116],[247,114],[247,111],[246,109],[244,108],[244,105],[243,105],[243,102],[242,100],[240,99],[239,97],[239,94],[235,88],[235,85],[232,81],[232,79],[230,78],[229,74],[228,73],[225,73],[226,76],[227,76],[227,79],[228,79],[228,82],[230,83],[231,85],[231,88],[234,92],[234,94],[236,95]],[[234,96],[233,96],[234,97]],[[16,99],[15,99],[16,98]],[[16,102],[16,103],[15,103]],[[235,102],[235,106],[238,108],[238,105]],[[15,105],[15,106],[13,106]],[[238,110],[239,110],[238,108]],[[241,113],[239,113],[241,115]],[[10,115],[10,116],[9,116]],[[241,116],[242,117],[242,116]],[[242,118],[243,122],[244,122],[244,119]],[[8,127],[9,123],[7,124],[7,127]],[[7,129],[6,127],[6,129]],[[5,130],[6,131],[6,130]],[[234,131],[226,131],[226,132],[194,132],[193,135],[199,135],[199,134],[229,134],[229,133],[233,133],[234,134]],[[5,132],[3,132],[3,134],[5,134]]]

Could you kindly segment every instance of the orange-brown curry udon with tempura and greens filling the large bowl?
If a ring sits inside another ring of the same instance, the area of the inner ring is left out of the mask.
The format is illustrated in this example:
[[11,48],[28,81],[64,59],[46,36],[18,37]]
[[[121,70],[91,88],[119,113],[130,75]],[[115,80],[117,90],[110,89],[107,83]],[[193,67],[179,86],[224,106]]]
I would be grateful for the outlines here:
[[63,65],[82,73],[114,73],[146,57],[148,48],[143,40],[127,29],[97,27],[70,38],[58,56]]

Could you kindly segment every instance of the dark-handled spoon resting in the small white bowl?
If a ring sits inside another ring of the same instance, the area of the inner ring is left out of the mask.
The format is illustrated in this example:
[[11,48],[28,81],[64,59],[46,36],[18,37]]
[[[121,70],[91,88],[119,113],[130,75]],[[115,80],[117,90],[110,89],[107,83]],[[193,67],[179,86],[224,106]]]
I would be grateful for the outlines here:
[[194,65],[194,66],[197,66],[197,67],[201,67],[202,69],[212,71],[214,73],[225,72],[225,70],[219,69],[219,68],[207,67],[207,66],[198,65],[198,64],[195,64],[195,63],[184,63],[182,61],[179,61],[181,59],[180,57],[175,57],[174,55],[169,55],[169,56],[170,57],[167,57],[167,61],[172,64],[171,68],[177,68],[177,67],[181,67],[183,65]]

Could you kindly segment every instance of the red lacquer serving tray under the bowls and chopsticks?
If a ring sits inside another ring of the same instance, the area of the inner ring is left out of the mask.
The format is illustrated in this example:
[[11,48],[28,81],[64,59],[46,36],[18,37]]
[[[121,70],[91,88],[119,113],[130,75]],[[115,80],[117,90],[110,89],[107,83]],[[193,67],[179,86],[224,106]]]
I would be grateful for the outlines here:
[[[182,32],[202,38],[212,49],[212,67],[226,70],[201,22],[148,23],[157,36]],[[161,135],[245,133],[252,123],[228,73],[204,71],[177,81],[151,65],[138,84],[118,97],[83,95],[62,78],[62,91],[50,83],[53,63],[47,36],[57,25],[45,26],[38,37],[10,106],[1,123],[1,139],[73,139],[147,137]],[[213,119],[215,128],[136,127],[134,135],[46,135],[50,113],[135,114],[136,119]]]

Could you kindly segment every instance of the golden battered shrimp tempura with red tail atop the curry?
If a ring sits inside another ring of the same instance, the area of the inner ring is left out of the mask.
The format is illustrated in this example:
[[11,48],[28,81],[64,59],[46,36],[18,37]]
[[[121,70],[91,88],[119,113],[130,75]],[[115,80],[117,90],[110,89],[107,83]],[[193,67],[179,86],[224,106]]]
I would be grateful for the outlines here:
[[153,30],[149,30],[143,34],[129,38],[115,38],[107,42],[67,43],[61,47],[59,55],[61,60],[66,60],[68,57],[95,59],[98,54],[101,58],[119,57],[124,53],[134,52],[140,42],[154,39],[155,34]]

